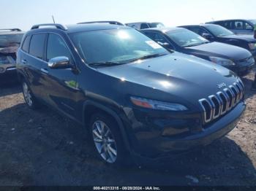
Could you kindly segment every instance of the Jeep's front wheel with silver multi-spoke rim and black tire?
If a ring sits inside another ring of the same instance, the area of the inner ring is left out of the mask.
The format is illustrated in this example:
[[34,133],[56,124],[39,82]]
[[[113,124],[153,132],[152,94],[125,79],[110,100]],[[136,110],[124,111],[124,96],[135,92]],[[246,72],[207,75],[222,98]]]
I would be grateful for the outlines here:
[[110,165],[123,165],[127,149],[121,139],[117,123],[106,114],[98,113],[91,117],[91,141],[97,156]]

